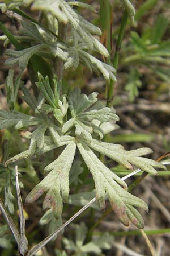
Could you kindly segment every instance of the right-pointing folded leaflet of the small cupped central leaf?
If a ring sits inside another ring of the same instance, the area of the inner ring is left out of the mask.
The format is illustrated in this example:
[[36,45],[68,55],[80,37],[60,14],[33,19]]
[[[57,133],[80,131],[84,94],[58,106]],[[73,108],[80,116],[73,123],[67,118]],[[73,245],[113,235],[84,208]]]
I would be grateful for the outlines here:
[[78,115],[80,119],[87,119],[89,121],[99,120],[101,123],[109,122],[111,120],[119,121],[119,118],[114,114],[111,108],[103,108],[100,110],[91,110],[85,113]]

